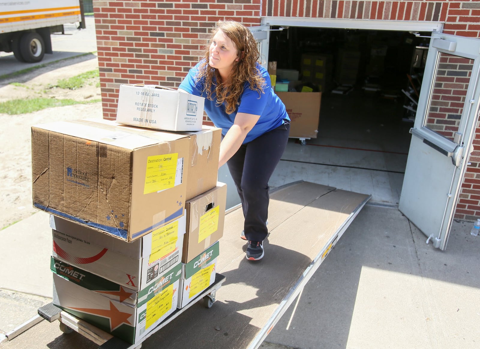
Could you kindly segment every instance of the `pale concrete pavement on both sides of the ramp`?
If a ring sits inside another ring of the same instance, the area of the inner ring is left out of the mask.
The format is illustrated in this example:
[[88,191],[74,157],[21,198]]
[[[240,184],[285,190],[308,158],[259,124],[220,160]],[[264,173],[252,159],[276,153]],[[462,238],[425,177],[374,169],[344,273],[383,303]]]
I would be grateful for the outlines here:
[[[454,222],[442,252],[397,209],[367,204],[270,332],[265,342],[279,346],[263,347],[480,348],[480,237],[469,231]],[[50,252],[44,212],[0,233],[0,288],[14,291],[0,293],[3,332],[49,302]],[[0,348],[96,348],[58,325],[43,321]]]

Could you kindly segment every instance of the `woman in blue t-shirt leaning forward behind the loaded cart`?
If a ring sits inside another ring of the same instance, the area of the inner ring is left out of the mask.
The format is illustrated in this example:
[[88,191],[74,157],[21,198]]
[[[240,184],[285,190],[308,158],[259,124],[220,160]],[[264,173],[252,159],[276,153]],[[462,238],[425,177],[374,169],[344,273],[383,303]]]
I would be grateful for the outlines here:
[[241,238],[246,257],[264,256],[267,236],[268,181],[287,146],[290,118],[259,63],[252,33],[234,21],[219,21],[205,57],[179,90],[205,98],[204,109],[222,128],[218,167],[227,163],[245,218]]

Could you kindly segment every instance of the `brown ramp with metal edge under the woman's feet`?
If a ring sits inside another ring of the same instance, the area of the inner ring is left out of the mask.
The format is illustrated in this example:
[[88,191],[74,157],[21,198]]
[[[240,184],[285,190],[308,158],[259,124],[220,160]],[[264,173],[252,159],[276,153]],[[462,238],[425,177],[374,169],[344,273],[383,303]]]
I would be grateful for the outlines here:
[[245,258],[241,209],[228,212],[217,260],[226,280],[217,302],[210,309],[198,302],[146,341],[258,348],[370,198],[309,182],[279,188],[270,196],[265,256],[257,262]]

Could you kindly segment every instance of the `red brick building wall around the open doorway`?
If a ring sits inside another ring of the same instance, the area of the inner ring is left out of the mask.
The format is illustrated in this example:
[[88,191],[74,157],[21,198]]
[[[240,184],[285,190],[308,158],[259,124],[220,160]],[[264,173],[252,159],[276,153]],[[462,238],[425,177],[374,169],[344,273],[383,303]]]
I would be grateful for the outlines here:
[[[116,116],[121,83],[177,87],[198,61],[199,51],[219,19],[245,25],[259,25],[261,16],[439,21],[445,23],[446,34],[480,37],[478,0],[94,0],[93,5],[107,119]],[[478,133],[474,147],[462,185],[463,201],[455,214],[460,219],[480,216]]]

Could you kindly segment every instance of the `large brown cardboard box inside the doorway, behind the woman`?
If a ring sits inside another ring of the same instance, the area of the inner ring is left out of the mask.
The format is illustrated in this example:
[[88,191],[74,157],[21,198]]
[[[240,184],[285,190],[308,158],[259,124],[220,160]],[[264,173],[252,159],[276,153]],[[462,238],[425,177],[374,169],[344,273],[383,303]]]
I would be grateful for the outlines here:
[[317,138],[321,92],[278,92],[290,116],[292,138]]

